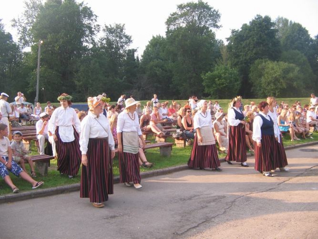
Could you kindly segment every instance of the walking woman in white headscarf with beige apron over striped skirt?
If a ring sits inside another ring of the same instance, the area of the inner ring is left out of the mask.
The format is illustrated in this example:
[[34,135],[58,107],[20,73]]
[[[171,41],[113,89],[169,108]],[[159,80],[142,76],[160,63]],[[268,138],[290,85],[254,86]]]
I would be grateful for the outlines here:
[[207,112],[208,102],[201,100],[197,106],[199,111],[194,116],[194,137],[193,148],[188,161],[189,168],[210,168],[222,171],[219,168],[218,150],[213,136],[213,126],[210,112]]

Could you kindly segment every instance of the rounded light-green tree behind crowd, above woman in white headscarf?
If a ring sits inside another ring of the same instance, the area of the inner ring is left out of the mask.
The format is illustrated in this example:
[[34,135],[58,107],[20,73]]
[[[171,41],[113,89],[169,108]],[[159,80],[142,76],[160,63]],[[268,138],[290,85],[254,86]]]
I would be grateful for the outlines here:
[[237,95],[240,77],[236,69],[226,65],[217,65],[212,72],[202,75],[204,91],[211,98],[224,99]]

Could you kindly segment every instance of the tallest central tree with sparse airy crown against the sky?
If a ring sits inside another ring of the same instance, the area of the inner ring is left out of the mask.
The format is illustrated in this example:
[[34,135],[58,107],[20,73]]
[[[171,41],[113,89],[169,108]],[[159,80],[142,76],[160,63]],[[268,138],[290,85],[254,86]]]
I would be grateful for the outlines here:
[[203,72],[220,57],[219,42],[212,29],[218,29],[220,14],[207,3],[180,4],[166,21],[166,58],[171,62],[172,82],[178,97],[202,96]]

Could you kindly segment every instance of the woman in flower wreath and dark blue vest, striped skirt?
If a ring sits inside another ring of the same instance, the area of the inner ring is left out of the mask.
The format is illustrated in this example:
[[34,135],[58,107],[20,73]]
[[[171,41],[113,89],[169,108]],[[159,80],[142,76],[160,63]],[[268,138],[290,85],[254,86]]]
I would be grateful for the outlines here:
[[228,164],[232,164],[231,161],[236,161],[241,163],[242,167],[248,167],[246,163],[245,121],[244,114],[239,109],[240,105],[241,97],[237,96],[230,103],[227,112],[229,148],[225,160]]

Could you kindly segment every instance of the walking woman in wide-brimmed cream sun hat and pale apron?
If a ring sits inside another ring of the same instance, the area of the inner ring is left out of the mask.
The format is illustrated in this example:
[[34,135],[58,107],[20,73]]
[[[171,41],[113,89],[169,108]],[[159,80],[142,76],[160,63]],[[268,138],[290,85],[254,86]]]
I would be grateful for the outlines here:
[[130,182],[133,182],[136,189],[142,187],[138,161],[138,138],[142,140],[142,145],[145,147],[138,114],[135,112],[137,103],[139,101],[128,98],[125,101],[125,110],[118,115],[117,120],[120,182],[125,183],[126,186],[131,186]]

